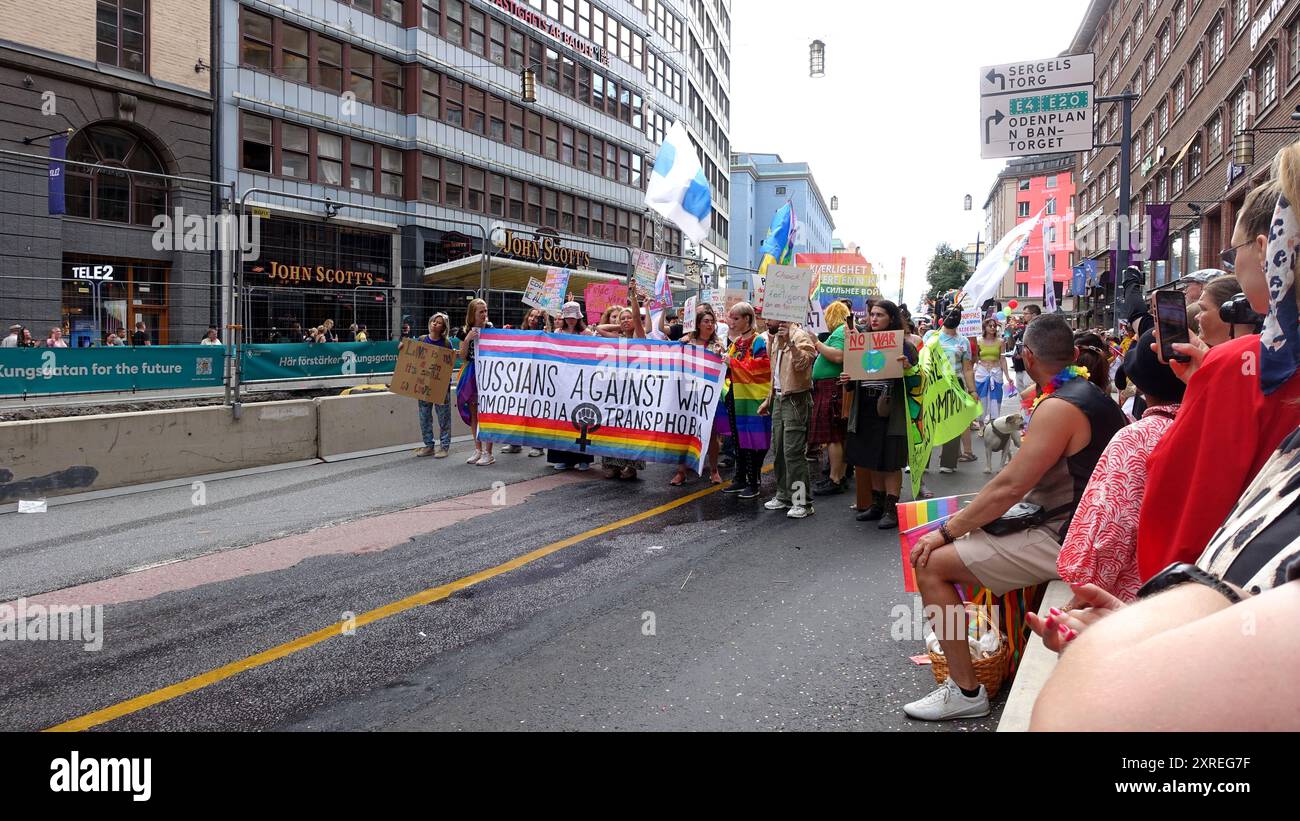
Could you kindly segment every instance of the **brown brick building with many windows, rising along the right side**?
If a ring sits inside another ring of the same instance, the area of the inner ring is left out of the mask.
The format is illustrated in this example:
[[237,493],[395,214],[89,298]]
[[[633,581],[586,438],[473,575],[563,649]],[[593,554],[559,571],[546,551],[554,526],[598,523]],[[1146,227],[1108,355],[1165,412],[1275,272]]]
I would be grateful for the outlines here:
[[[1245,194],[1265,179],[1274,155],[1296,139],[1300,103],[1300,3],[1287,0],[1095,0],[1069,53],[1096,55],[1097,95],[1126,87],[1132,113],[1131,209],[1171,203],[1167,262],[1147,262],[1147,284],[1175,282],[1218,265]],[[1121,110],[1097,110],[1098,144],[1118,142]],[[1265,133],[1258,129],[1286,129]],[[1232,164],[1232,139],[1253,136],[1253,162]],[[1109,269],[1117,226],[1119,149],[1079,157],[1076,259]],[[1113,275],[1096,295],[1100,314]],[[1110,320],[1105,320],[1109,322]]]

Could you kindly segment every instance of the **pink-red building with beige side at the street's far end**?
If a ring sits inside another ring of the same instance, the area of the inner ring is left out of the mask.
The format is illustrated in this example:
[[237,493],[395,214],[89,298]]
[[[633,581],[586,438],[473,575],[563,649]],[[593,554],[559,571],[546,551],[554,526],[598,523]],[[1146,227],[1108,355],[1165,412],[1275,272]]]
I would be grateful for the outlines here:
[[[979,240],[980,259],[1020,222],[1043,212],[1043,225],[1034,229],[1030,240],[1002,278],[996,299],[1015,299],[1026,305],[1043,305],[1048,257],[1052,257],[1057,305],[1072,310],[1065,300],[1070,290],[1072,226],[1075,208],[1075,158],[1072,155],[1036,156],[1011,160],[998,174],[984,200],[985,231]],[[974,268],[975,246],[966,248],[967,264]]]

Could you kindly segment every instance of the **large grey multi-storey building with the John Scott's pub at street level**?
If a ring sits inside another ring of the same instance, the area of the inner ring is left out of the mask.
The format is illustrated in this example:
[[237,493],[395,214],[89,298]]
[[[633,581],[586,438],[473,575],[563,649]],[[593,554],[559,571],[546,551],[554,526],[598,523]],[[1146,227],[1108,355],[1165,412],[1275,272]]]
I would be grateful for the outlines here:
[[724,259],[729,27],[729,4],[686,0],[225,0],[222,177],[265,209],[244,262],[255,338],[459,322],[485,234],[497,323],[524,310],[503,291],[551,262],[581,294],[628,247],[682,253],[644,203],[676,120],[715,192],[692,251]]

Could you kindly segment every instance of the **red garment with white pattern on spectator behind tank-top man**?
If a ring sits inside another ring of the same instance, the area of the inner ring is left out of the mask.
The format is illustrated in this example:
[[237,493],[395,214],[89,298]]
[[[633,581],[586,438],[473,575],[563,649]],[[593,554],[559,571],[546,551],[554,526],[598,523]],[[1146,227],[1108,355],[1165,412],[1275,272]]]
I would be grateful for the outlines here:
[[1138,572],[1138,518],[1147,490],[1147,462],[1174,423],[1178,408],[1147,408],[1102,451],[1061,546],[1057,573],[1062,579],[1096,585],[1124,601],[1138,598],[1143,582]]

